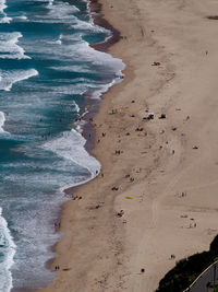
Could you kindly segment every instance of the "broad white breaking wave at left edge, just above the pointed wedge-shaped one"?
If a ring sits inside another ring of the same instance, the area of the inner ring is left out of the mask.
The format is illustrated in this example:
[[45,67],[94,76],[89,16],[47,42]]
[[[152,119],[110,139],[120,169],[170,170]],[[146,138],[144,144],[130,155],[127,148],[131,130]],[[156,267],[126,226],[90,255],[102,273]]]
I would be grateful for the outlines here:
[[0,34],[0,58],[1,59],[31,59],[25,55],[25,50],[17,45],[19,38],[23,35],[16,33]]

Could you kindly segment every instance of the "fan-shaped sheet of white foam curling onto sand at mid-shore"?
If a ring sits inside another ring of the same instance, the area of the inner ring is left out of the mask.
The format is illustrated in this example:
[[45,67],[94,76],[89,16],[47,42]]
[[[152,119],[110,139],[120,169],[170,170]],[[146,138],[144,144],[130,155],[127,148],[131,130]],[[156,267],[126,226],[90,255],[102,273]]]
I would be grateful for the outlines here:
[[88,154],[84,148],[85,143],[86,140],[82,135],[72,129],[70,132],[63,132],[61,137],[44,144],[45,149],[55,152],[65,160],[73,161],[89,172],[89,177],[76,185],[93,179],[100,171],[100,163]]

